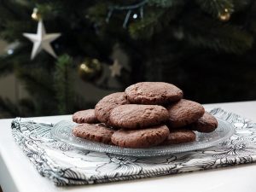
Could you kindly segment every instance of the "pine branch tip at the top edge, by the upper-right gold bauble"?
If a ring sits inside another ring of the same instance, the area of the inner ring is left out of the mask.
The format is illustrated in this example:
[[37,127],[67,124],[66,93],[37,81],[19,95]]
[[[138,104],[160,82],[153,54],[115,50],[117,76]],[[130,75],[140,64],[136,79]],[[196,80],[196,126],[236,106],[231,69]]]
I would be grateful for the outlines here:
[[229,12],[234,12],[233,0],[195,0],[195,2],[213,17]]

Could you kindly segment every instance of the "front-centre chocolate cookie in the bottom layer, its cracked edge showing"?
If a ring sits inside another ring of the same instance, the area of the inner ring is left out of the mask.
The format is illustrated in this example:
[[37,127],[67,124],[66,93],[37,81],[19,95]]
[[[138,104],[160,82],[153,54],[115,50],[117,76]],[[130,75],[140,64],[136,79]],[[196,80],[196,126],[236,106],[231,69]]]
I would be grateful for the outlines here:
[[166,140],[169,129],[166,125],[156,125],[142,130],[119,130],[111,137],[113,144],[123,148],[149,148]]

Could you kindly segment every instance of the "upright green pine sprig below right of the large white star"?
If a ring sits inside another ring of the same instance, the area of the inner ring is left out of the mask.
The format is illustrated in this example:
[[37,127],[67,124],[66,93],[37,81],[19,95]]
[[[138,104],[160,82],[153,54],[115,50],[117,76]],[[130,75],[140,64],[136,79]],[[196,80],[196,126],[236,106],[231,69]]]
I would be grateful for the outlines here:
[[73,110],[73,79],[71,77],[72,58],[69,55],[58,57],[55,66],[55,96],[60,114]]

